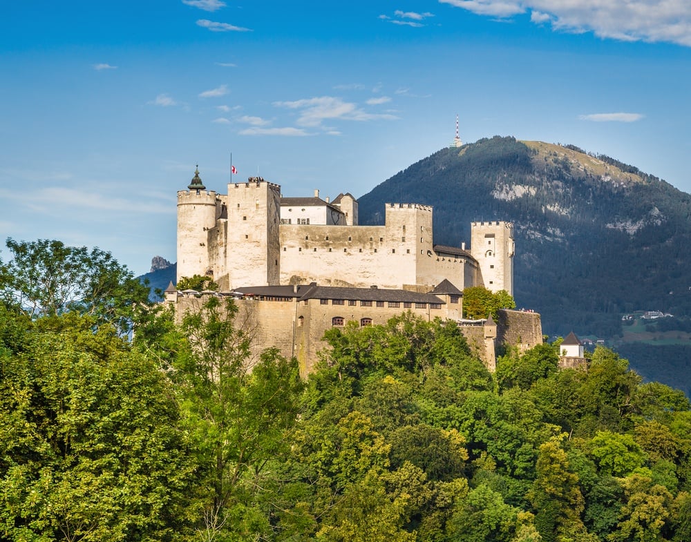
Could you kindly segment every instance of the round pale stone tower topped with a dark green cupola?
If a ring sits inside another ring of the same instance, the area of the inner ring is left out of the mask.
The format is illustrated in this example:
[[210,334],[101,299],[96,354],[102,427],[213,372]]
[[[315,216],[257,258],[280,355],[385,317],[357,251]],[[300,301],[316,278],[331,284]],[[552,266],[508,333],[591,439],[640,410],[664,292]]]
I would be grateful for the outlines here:
[[180,277],[206,275],[209,267],[209,230],[216,226],[216,192],[207,192],[199,168],[187,185],[178,191],[178,273]]

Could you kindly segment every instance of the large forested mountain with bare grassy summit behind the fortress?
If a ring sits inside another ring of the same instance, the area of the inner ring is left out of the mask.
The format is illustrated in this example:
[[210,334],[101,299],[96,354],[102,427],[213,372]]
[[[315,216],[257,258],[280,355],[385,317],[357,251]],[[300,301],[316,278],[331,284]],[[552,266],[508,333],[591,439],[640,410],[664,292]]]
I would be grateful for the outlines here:
[[691,316],[691,196],[616,159],[496,136],[379,184],[360,223],[383,223],[386,202],[434,206],[438,244],[470,240],[475,220],[513,222],[515,300],[550,335],[616,338],[636,310]]

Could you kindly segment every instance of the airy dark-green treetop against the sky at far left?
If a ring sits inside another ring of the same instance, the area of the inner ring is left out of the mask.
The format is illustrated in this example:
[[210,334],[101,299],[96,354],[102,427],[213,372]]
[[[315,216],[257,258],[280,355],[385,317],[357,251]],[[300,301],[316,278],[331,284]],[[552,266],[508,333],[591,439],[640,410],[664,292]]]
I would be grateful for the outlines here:
[[0,262],[0,297],[32,318],[77,311],[124,332],[134,305],[149,302],[149,287],[108,252],[45,239],[6,244],[12,260]]

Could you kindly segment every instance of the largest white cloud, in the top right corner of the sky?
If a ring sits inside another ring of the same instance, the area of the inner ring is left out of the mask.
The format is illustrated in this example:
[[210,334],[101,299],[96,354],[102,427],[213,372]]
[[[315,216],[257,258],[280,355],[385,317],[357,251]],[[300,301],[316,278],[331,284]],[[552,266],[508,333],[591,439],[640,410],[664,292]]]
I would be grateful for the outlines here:
[[439,0],[480,15],[509,18],[530,11],[533,23],[563,32],[593,32],[621,41],[691,47],[688,0]]

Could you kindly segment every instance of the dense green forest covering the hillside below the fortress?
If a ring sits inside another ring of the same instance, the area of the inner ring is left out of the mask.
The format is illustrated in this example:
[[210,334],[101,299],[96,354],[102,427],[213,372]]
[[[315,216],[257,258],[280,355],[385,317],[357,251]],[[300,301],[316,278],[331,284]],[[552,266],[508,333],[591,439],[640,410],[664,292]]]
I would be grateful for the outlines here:
[[[558,341],[486,371],[453,322],[346,325],[306,381],[232,300],[180,321],[107,253],[0,262],[0,539],[691,539],[691,405]],[[267,345],[270,346],[270,345]]]

